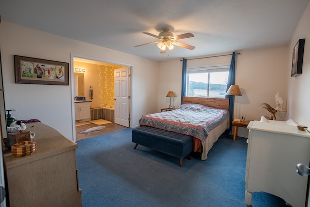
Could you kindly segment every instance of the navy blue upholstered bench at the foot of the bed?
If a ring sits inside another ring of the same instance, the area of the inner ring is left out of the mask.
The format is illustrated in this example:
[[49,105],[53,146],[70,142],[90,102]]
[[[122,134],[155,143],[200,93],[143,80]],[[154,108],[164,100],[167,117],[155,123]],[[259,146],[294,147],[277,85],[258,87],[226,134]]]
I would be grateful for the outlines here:
[[192,151],[193,138],[189,135],[169,132],[148,126],[137,127],[132,130],[132,142],[138,145],[163,152],[179,158],[180,167],[183,166],[182,159]]

